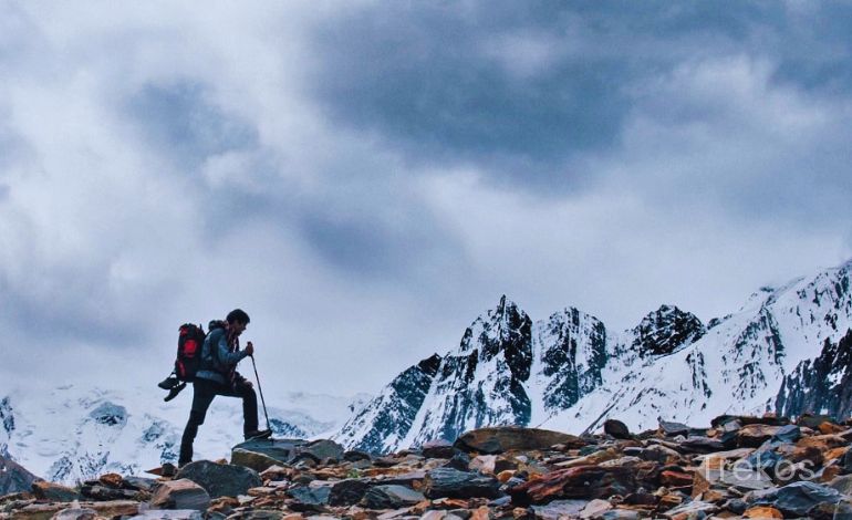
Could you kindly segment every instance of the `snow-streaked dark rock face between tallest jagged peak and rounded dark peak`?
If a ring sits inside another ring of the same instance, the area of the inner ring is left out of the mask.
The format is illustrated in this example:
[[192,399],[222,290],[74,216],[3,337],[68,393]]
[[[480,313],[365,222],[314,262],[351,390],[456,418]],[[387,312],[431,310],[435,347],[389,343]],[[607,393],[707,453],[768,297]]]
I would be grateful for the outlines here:
[[544,392],[544,407],[553,412],[565,409],[603,383],[606,327],[600,320],[571,308],[552,314],[542,334],[548,337],[541,341],[542,374],[551,378]]

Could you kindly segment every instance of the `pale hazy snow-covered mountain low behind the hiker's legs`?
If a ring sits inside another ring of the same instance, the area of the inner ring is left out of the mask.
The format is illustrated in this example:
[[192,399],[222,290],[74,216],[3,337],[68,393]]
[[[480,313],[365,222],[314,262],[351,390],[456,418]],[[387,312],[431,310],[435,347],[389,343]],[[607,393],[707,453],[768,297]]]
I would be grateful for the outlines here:
[[[169,403],[163,395],[156,387],[12,388],[0,395],[0,456],[41,478],[65,483],[107,471],[141,475],[162,462],[176,462],[191,388]],[[311,438],[340,428],[368,397],[291,393],[270,401],[276,404],[268,408],[276,436]],[[219,397],[199,428],[195,456],[228,457],[241,435],[241,402]]]

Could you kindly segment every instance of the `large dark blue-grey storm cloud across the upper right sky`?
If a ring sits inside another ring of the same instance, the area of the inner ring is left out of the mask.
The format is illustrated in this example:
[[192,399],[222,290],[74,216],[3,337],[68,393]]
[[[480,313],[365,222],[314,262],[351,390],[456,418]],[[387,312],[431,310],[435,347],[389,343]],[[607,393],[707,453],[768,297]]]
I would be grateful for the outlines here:
[[[654,117],[713,125],[715,106],[672,114],[665,89],[635,92],[685,64],[748,55],[772,64],[770,86],[845,95],[849,18],[848,4],[768,1],[371,3],[318,33],[314,92],[412,160],[544,195],[595,176],[579,159],[617,152],[648,96]],[[507,38],[537,45],[540,66]]]

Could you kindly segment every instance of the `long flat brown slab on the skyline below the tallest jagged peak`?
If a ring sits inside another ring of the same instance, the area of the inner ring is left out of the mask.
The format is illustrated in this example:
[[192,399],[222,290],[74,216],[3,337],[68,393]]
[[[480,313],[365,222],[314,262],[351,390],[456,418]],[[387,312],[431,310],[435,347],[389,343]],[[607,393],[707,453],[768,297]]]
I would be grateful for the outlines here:
[[455,446],[458,449],[465,451],[477,451],[480,454],[493,455],[501,454],[511,449],[548,449],[557,444],[564,444],[574,447],[585,445],[585,443],[575,435],[568,435],[539,428],[500,426],[467,431],[456,440]]

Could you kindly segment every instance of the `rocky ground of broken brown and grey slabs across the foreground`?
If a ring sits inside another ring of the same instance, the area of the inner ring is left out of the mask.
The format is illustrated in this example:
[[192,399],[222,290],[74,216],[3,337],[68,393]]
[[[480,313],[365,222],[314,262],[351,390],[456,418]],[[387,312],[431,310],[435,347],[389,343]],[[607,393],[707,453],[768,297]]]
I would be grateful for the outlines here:
[[499,427],[383,457],[331,440],[251,441],[230,462],[166,465],[156,479],[37,481],[0,498],[0,519],[852,519],[850,425],[723,416],[633,435],[610,420],[588,437]]

